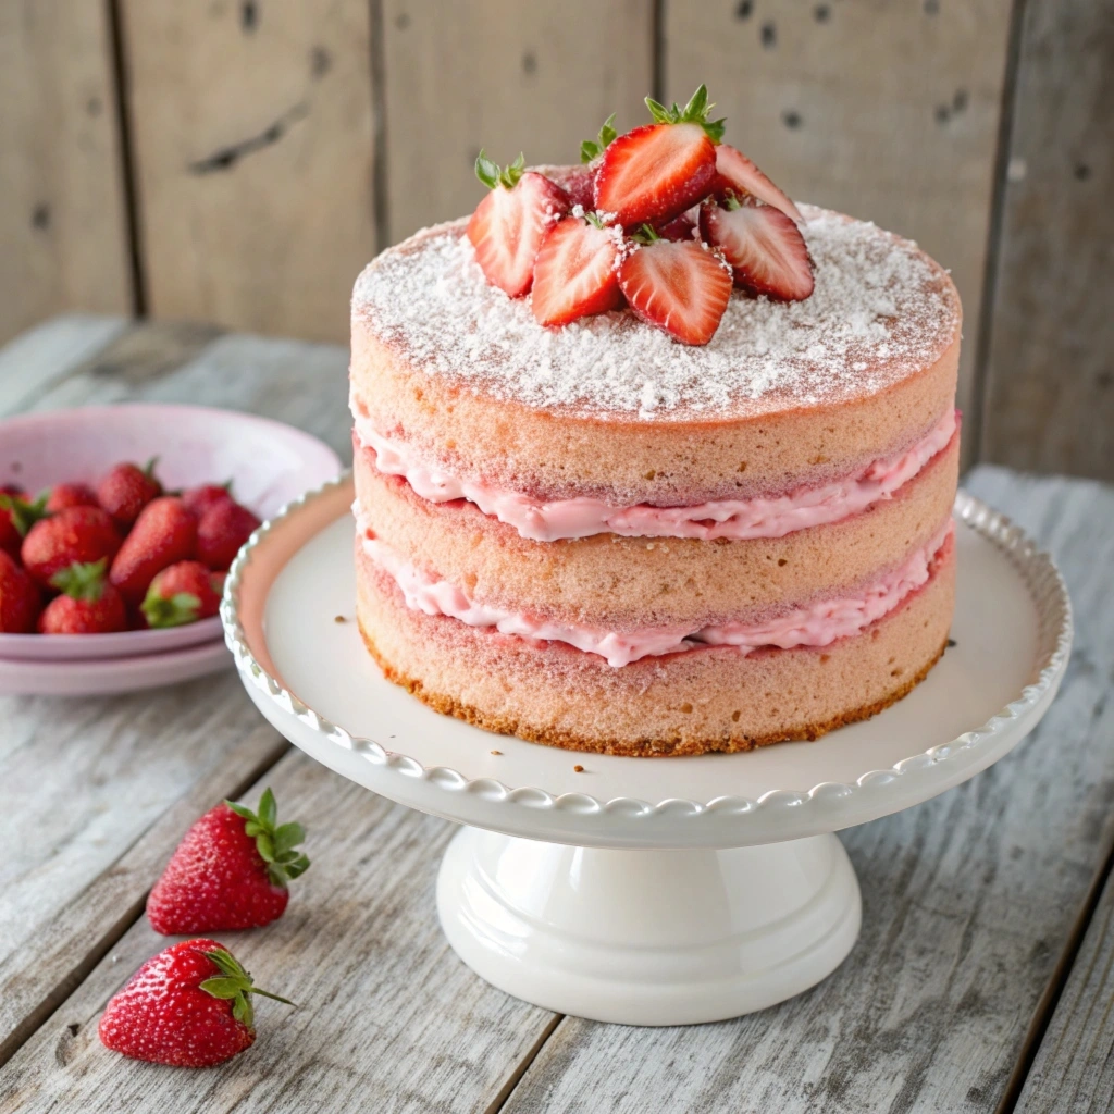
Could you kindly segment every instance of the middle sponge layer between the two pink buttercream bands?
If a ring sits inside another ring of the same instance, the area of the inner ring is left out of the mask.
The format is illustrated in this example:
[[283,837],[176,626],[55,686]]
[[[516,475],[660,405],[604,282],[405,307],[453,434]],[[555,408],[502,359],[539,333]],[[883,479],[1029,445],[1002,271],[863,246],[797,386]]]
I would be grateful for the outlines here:
[[469,502],[434,504],[355,453],[362,530],[496,608],[618,632],[763,622],[857,589],[939,529],[956,490],[958,438],[896,495],[840,522],[781,538],[532,541]]

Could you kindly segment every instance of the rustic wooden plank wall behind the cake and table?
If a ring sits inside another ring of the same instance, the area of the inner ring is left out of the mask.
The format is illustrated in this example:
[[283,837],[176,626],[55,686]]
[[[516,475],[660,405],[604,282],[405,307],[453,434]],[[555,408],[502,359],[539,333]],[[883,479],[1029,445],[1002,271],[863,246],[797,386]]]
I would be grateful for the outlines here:
[[704,80],[799,197],[951,268],[968,463],[1114,478],[1114,0],[11,0],[0,342],[62,310],[346,339],[354,275]]

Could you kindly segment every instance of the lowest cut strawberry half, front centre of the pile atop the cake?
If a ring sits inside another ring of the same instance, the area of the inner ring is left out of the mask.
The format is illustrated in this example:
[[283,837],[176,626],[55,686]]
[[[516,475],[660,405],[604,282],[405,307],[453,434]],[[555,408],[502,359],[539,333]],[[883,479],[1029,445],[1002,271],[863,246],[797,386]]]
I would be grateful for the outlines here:
[[706,344],[731,300],[726,267],[695,240],[659,240],[652,228],[619,264],[619,287],[643,321],[685,344]]

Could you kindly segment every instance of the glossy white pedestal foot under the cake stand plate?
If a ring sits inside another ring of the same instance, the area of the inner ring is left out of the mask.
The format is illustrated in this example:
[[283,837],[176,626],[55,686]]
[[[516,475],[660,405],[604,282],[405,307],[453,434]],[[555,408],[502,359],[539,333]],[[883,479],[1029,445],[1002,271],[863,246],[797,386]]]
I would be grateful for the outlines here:
[[461,828],[441,862],[449,942],[489,983],[626,1025],[716,1022],[814,986],[862,902],[834,836],[727,850],[604,850]]

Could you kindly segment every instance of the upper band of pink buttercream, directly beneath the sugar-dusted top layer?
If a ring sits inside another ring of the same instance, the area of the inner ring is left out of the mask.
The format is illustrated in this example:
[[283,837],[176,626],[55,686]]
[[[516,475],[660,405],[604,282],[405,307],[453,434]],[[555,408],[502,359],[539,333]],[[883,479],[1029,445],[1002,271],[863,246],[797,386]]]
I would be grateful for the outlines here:
[[916,444],[859,475],[774,498],[714,499],[694,507],[612,507],[602,499],[578,496],[543,502],[494,483],[460,479],[419,459],[413,448],[374,430],[353,400],[355,432],[372,449],[381,472],[401,476],[423,499],[467,499],[485,515],[514,526],[524,538],[556,541],[593,534],[646,538],[780,538],[810,526],[837,522],[889,499],[912,479],[956,431],[957,413],[947,413]]

